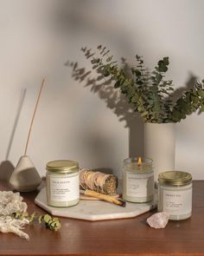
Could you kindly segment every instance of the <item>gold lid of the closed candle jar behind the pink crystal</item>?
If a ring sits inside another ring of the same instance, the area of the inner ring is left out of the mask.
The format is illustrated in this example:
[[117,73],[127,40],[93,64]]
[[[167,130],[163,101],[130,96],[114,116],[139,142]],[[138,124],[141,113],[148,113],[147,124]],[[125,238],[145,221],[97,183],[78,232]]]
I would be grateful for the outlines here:
[[181,171],[168,171],[159,174],[158,181],[172,186],[188,185],[192,181],[192,175]]

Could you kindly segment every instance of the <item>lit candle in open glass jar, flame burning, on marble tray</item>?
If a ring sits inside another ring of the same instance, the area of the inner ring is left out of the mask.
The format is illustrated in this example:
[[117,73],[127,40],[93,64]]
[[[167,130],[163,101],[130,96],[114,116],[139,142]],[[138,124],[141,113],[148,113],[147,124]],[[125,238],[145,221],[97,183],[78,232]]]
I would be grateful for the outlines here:
[[130,202],[148,202],[154,198],[152,160],[127,158],[123,167],[123,199]]

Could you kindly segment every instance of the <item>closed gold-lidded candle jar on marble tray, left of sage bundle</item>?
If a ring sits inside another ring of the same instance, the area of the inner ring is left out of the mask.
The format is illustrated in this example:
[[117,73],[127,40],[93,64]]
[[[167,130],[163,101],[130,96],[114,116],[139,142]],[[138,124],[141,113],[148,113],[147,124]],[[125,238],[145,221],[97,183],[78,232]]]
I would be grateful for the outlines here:
[[80,201],[79,164],[76,161],[49,161],[46,173],[48,205],[72,207]]

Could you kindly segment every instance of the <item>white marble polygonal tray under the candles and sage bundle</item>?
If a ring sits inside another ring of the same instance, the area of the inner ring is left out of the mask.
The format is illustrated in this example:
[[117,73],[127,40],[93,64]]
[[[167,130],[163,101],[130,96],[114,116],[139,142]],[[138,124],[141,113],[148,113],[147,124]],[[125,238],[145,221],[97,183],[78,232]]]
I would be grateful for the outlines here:
[[118,207],[102,200],[80,200],[80,203],[74,207],[49,207],[45,187],[35,198],[35,204],[55,216],[91,221],[132,218],[156,206],[153,202],[138,204],[126,202],[126,207]]

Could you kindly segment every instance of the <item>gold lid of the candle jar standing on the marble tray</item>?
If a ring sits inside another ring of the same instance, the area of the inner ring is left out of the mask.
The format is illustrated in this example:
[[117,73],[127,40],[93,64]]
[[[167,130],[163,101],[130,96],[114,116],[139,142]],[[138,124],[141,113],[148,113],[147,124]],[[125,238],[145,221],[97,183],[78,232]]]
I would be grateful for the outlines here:
[[49,161],[46,165],[46,169],[48,171],[57,172],[61,174],[78,172],[78,168],[79,168],[79,163],[77,161],[70,161],[70,160]]

